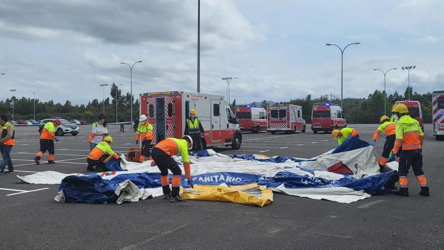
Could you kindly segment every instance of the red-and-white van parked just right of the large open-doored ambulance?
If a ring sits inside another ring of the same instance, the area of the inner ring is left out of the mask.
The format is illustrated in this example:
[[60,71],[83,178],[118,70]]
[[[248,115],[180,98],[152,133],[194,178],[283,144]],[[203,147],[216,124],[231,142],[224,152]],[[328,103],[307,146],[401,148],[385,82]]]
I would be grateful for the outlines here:
[[236,106],[236,118],[241,131],[259,133],[267,130],[267,111],[262,106]]

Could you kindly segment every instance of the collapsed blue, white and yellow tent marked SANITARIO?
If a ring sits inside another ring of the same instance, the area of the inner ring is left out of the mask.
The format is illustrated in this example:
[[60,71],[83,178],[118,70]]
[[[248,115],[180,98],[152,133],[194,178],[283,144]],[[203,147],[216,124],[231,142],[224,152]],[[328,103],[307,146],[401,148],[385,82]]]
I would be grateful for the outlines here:
[[[182,168],[181,157],[175,160]],[[187,199],[264,206],[272,191],[288,195],[352,203],[385,192],[396,172],[379,173],[374,147],[349,138],[338,148],[311,159],[263,155],[223,155],[209,150],[190,156],[192,182],[182,177]],[[162,195],[160,172],[151,162],[132,163],[122,157],[108,162],[109,172],[62,174],[46,171],[17,176],[20,182],[60,184],[55,201],[107,204],[137,202]],[[390,163],[393,169],[397,163]],[[171,176],[170,176],[171,180]]]

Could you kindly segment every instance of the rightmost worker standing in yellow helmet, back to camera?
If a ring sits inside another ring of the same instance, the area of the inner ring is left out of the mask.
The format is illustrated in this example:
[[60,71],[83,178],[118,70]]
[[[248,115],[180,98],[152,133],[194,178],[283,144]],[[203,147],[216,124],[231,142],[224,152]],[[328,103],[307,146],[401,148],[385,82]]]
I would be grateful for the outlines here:
[[[395,194],[409,196],[407,174],[411,166],[421,186],[419,194],[429,196],[427,178],[422,171],[422,143],[424,132],[422,132],[419,122],[410,117],[409,109],[406,105],[398,104],[393,111],[397,113],[399,121],[396,124],[396,140],[392,152],[396,155],[401,146],[403,148],[398,167],[400,190],[395,192]],[[392,160],[395,158],[393,154]]]

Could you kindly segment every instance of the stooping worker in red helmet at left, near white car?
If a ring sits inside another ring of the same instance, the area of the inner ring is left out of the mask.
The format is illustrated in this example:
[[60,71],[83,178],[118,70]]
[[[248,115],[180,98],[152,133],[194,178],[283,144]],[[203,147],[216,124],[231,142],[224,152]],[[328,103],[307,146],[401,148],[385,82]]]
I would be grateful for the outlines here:
[[48,151],[48,164],[54,164],[54,140],[59,141],[57,137],[55,137],[55,127],[60,126],[62,122],[59,119],[55,119],[52,122],[47,122],[42,129],[42,133],[40,134],[40,150],[37,153],[37,156],[34,157],[35,164],[40,164],[40,159],[43,157],[43,154]]

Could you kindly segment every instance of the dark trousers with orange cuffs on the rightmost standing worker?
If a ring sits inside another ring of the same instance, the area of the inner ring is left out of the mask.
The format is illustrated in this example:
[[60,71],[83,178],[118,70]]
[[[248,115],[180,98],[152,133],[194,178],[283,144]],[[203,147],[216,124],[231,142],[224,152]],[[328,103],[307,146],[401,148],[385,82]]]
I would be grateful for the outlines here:
[[407,174],[409,173],[410,166],[413,169],[413,173],[416,176],[419,184],[422,187],[427,186],[427,179],[422,171],[422,154],[419,149],[404,150],[399,158],[399,184],[401,187],[408,186]]

